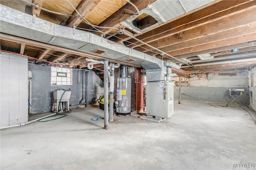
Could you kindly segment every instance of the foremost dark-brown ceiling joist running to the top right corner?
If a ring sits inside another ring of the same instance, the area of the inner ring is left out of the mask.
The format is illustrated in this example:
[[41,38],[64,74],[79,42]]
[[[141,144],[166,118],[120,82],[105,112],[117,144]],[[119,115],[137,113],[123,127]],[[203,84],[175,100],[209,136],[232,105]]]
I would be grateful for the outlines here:
[[[254,5],[255,2],[248,2],[244,0],[232,0],[229,1],[229,3],[226,3],[226,1],[220,1],[216,4],[213,4],[212,6],[208,6],[190,15],[179,18],[178,20],[171,20],[171,22],[168,22],[163,26],[137,36],[137,38],[143,40],[146,43],[150,43],[158,40],[159,38],[174,35],[178,32],[186,31],[190,28],[207,24],[212,20],[221,19],[223,16],[225,17],[226,15],[236,13]],[[124,39],[126,37],[127,36],[122,36],[121,38]],[[114,42],[120,42],[120,39],[118,38],[111,40]],[[129,42],[136,43],[136,40],[129,40]],[[141,43],[136,44],[141,45]],[[125,45],[129,44],[125,43]],[[131,47],[133,46],[134,45],[131,45]]]

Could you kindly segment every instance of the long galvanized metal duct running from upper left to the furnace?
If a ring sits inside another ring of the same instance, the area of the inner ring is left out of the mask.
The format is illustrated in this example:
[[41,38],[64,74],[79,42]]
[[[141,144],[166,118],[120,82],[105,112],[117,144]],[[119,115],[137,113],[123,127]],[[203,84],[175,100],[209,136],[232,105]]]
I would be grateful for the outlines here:
[[[90,32],[60,26],[0,5],[0,31],[29,40],[48,43],[92,55],[140,65],[147,71],[161,70],[161,60],[111,42]],[[93,61],[92,61],[93,62]]]

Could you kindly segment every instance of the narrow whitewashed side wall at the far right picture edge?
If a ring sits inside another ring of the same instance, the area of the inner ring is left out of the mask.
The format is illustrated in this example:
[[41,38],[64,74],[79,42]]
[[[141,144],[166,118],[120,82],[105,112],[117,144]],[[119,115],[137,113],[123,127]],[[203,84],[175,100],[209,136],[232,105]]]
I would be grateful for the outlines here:
[[252,68],[248,74],[249,91],[250,91],[250,105],[256,111],[256,67]]

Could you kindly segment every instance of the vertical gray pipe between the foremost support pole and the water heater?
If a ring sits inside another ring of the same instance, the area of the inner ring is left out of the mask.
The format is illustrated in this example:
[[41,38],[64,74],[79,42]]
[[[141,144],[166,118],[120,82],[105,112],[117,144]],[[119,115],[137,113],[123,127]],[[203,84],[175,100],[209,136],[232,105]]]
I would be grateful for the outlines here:
[[113,121],[114,117],[114,77],[115,77],[115,64],[111,64],[111,73],[110,73],[110,91],[109,91],[109,121]]

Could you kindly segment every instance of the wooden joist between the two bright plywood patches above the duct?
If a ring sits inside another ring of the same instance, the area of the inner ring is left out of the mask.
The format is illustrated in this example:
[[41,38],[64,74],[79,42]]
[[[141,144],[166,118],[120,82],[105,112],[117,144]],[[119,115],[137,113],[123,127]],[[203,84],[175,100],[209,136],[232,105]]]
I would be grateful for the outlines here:
[[[76,7],[76,10],[85,18],[90,13],[90,11],[98,5],[99,2],[100,0],[81,0],[81,2]],[[83,18],[80,17],[76,11],[74,11],[72,15],[76,16],[76,18],[68,18],[66,22],[68,27],[78,26],[83,21]]]

